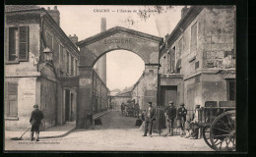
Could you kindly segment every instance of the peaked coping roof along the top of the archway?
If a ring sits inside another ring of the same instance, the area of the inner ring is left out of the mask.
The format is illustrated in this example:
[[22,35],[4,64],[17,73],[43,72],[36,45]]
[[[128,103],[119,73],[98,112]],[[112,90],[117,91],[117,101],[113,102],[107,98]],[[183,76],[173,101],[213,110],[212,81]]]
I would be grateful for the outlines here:
[[144,32],[141,32],[141,31],[137,31],[137,30],[121,27],[121,26],[115,26],[115,27],[109,28],[109,29],[107,29],[103,32],[97,33],[94,36],[91,36],[89,38],[81,40],[77,43],[77,45],[78,46],[89,45],[93,42],[96,42],[99,39],[102,39],[102,38],[105,38],[105,37],[108,37],[108,36],[111,36],[115,33],[120,33],[120,32],[137,35],[137,36],[140,36],[140,37],[144,37],[144,38],[153,40],[155,42],[160,42],[160,40],[161,40],[161,37],[159,37],[159,36],[151,35],[151,34],[148,34],[148,33],[144,33]]

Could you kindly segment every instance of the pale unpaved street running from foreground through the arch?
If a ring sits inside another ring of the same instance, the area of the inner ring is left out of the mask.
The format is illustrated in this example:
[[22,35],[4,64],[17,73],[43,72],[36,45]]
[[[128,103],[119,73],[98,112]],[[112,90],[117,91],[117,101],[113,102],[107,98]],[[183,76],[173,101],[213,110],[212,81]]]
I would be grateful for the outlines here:
[[65,151],[213,151],[201,139],[163,136],[142,136],[135,127],[136,118],[124,117],[120,111],[102,116],[102,125],[76,130],[65,137],[29,140],[5,139],[6,150],[65,150]]

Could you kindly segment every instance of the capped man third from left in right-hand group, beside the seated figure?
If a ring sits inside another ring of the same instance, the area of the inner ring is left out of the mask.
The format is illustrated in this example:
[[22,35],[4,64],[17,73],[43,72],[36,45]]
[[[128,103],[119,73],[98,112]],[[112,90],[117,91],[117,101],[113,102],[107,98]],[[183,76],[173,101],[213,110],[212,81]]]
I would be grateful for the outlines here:
[[181,136],[185,134],[185,122],[186,122],[186,115],[187,115],[187,110],[184,106],[185,106],[184,103],[181,103],[177,111],[177,128],[181,130],[180,131]]

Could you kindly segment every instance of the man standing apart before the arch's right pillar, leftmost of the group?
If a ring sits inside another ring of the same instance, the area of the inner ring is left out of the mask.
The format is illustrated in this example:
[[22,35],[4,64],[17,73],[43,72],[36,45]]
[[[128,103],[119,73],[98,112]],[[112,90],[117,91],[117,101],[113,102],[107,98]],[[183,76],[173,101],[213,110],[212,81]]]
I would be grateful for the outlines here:
[[152,107],[152,102],[148,102],[149,109],[146,113],[146,119],[145,119],[145,129],[143,136],[147,136],[148,127],[150,126],[150,136],[152,137],[152,126],[153,121],[156,120],[156,110]]

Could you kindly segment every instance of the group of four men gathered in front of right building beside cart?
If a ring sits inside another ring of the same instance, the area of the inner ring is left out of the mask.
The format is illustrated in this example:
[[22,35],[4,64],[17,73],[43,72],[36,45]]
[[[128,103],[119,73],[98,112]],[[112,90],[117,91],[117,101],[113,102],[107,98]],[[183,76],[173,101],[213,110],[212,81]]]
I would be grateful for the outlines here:
[[[152,137],[152,127],[153,122],[156,120],[156,109],[153,108],[152,102],[148,102],[149,109],[142,115],[143,121],[145,121],[145,130],[143,136],[147,136],[149,131],[150,136]],[[180,104],[180,107],[176,109],[172,101],[168,102],[168,106],[164,109],[165,115],[165,125],[167,129],[167,135],[173,135],[174,120],[176,119],[176,128],[180,130],[180,136],[190,137],[191,139],[198,138],[199,127],[197,127],[198,122],[198,109],[200,105],[196,105],[195,112],[193,117],[187,119],[187,109],[185,108],[184,103]]]

